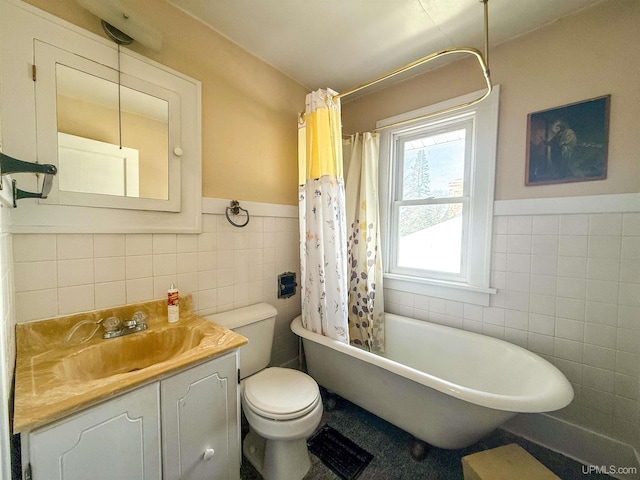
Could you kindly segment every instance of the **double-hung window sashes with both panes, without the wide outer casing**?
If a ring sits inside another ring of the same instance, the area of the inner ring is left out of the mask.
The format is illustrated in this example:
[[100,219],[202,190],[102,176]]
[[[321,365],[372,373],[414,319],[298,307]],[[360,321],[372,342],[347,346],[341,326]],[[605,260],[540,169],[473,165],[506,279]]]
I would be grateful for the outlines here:
[[392,271],[444,279],[464,272],[472,132],[463,117],[394,136]]

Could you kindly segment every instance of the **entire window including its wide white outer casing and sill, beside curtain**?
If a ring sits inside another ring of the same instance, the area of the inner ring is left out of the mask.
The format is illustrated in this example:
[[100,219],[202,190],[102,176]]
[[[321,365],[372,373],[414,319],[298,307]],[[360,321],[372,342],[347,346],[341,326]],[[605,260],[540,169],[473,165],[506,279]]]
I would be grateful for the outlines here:
[[487,305],[499,87],[378,122],[385,286]]

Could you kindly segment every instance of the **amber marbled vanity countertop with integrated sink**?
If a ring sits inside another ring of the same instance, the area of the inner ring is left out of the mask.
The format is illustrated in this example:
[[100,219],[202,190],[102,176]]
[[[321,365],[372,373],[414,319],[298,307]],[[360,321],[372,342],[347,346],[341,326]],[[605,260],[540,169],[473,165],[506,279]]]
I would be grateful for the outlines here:
[[[136,311],[147,315],[147,330],[104,340],[100,326],[90,340],[80,343],[101,318],[127,320]],[[71,329],[84,320],[90,323],[65,341]],[[156,337],[148,344],[153,348],[145,344],[145,335]],[[180,321],[176,323],[168,323],[166,300],[158,300],[18,324],[13,432],[43,426],[246,343],[242,335],[196,315],[190,296],[180,299]],[[111,355],[108,365],[100,353],[105,347]],[[148,351],[141,351],[143,348]],[[155,363],[138,369],[136,361],[146,356]],[[120,362],[122,373],[100,375],[102,370],[120,371],[113,365]]]

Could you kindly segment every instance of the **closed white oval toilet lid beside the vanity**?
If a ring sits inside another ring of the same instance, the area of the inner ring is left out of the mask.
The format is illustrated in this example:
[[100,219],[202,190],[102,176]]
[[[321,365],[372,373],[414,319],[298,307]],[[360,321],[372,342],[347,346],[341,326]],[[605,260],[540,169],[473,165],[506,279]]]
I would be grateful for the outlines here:
[[319,401],[320,389],[306,373],[271,367],[245,379],[243,398],[258,415],[286,420],[311,411]]

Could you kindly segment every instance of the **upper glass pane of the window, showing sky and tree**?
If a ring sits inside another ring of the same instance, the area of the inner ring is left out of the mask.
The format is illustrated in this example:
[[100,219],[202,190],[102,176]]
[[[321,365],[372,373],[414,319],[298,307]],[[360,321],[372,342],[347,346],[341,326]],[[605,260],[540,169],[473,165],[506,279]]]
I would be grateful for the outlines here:
[[402,200],[462,196],[465,133],[463,128],[404,143]]

